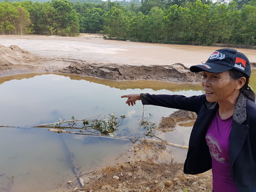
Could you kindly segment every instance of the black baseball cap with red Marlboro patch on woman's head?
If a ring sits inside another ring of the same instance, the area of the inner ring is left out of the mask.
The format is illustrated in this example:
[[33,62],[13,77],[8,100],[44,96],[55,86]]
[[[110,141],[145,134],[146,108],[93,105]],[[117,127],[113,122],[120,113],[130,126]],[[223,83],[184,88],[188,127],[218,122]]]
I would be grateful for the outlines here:
[[214,51],[204,64],[190,67],[192,72],[207,71],[220,73],[230,69],[238,70],[251,76],[251,66],[248,58],[235,49],[219,49]]

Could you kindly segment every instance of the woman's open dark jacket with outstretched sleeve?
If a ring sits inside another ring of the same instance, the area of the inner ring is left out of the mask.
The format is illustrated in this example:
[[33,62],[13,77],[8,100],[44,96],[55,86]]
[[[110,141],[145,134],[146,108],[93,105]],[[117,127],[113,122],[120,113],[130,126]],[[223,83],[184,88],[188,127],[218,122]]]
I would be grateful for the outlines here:
[[[194,123],[185,174],[199,174],[212,168],[212,160],[205,136],[212,122],[218,103],[210,103],[205,95],[185,97],[182,95],[141,94],[142,104],[193,111],[198,114]],[[230,133],[230,173],[240,192],[256,191],[256,104],[243,94],[238,97]]]

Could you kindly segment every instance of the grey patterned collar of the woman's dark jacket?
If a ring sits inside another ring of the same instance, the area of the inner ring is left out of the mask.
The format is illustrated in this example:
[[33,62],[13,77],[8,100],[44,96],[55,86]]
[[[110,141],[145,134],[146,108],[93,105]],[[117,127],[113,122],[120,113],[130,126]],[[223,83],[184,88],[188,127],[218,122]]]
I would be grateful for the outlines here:
[[[218,102],[205,102],[208,109],[217,109],[219,107]],[[236,108],[233,114],[233,120],[242,124],[246,120],[246,97],[240,93],[238,95],[238,100]]]

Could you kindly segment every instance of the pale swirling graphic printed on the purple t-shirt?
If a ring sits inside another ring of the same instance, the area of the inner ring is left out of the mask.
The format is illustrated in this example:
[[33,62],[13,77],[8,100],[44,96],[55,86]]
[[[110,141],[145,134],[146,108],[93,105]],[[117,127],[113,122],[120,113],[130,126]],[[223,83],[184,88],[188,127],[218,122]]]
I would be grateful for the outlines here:
[[225,158],[221,157],[222,150],[218,139],[216,139],[211,133],[207,133],[205,138],[212,158],[219,163],[224,163]]

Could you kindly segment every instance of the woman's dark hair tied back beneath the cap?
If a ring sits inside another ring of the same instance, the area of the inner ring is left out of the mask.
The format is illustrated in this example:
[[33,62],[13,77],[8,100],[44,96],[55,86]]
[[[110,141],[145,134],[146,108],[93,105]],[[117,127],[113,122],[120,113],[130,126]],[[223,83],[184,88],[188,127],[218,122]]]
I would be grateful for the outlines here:
[[255,102],[255,93],[253,92],[253,90],[251,89],[250,86],[248,86],[249,84],[249,77],[238,71],[238,70],[234,70],[234,69],[230,69],[228,70],[230,76],[233,78],[233,79],[239,79],[241,77],[245,77],[246,78],[246,82],[244,84],[244,86],[242,88],[240,88],[240,93],[244,94],[244,96],[246,96],[248,99],[252,100],[253,102]]

